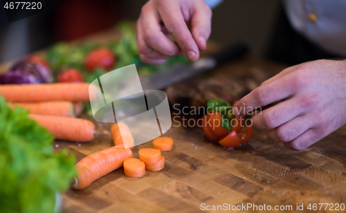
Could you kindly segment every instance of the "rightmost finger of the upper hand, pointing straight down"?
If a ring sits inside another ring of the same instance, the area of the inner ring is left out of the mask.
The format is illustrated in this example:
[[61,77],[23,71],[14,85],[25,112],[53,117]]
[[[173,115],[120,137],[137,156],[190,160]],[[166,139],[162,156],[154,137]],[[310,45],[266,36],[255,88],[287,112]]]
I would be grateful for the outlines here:
[[206,49],[206,41],[211,33],[212,10],[204,1],[199,1],[192,14],[192,36],[199,50]]

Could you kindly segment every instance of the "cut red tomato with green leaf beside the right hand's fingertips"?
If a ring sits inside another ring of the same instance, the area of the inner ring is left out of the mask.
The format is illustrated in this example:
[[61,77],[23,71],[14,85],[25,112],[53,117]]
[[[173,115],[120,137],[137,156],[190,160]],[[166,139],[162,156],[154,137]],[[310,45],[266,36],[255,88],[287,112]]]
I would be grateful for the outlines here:
[[[223,147],[239,147],[253,135],[251,115],[235,117],[230,103],[217,98],[208,101],[208,113],[203,116],[202,128],[207,138],[218,141]],[[251,122],[251,124],[248,124]]]

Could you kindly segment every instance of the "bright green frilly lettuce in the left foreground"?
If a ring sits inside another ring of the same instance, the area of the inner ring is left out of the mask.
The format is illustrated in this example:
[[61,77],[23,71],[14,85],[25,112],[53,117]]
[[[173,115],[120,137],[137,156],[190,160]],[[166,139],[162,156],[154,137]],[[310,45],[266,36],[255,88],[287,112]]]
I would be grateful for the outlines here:
[[75,157],[53,154],[53,136],[0,97],[0,212],[55,212],[75,176]]

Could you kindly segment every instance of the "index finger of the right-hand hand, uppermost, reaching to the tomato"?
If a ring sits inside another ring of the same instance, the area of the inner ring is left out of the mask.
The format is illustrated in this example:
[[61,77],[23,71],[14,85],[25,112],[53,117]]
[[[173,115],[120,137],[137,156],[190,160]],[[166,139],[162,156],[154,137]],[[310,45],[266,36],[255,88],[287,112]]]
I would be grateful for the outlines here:
[[264,107],[273,102],[289,98],[295,88],[293,80],[294,77],[290,73],[269,84],[258,86],[235,104],[235,115],[237,117],[244,116],[257,107]]

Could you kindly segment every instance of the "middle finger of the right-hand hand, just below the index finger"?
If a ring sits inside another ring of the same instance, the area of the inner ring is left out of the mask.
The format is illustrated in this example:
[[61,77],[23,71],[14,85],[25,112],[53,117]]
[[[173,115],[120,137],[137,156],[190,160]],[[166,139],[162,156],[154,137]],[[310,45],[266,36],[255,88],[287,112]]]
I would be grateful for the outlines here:
[[297,100],[298,98],[285,100],[253,115],[251,118],[253,120],[253,126],[260,129],[274,129],[289,122],[304,110],[300,107],[300,104],[296,104]]

